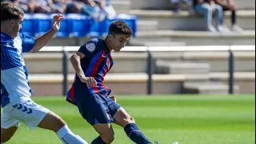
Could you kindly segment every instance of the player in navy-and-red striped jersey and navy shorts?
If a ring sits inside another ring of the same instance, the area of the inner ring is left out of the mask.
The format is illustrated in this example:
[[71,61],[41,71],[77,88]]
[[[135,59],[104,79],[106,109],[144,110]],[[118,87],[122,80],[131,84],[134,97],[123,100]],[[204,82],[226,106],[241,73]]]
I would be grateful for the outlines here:
[[122,126],[135,143],[151,143],[138,129],[134,118],[114,102],[114,97],[114,100],[110,98],[111,90],[103,84],[104,76],[113,66],[111,50],[120,51],[132,34],[126,22],[114,21],[105,40],[94,38],[70,57],[76,74],[66,100],[78,106],[82,117],[98,132],[99,136],[92,144],[114,141],[112,122]]

